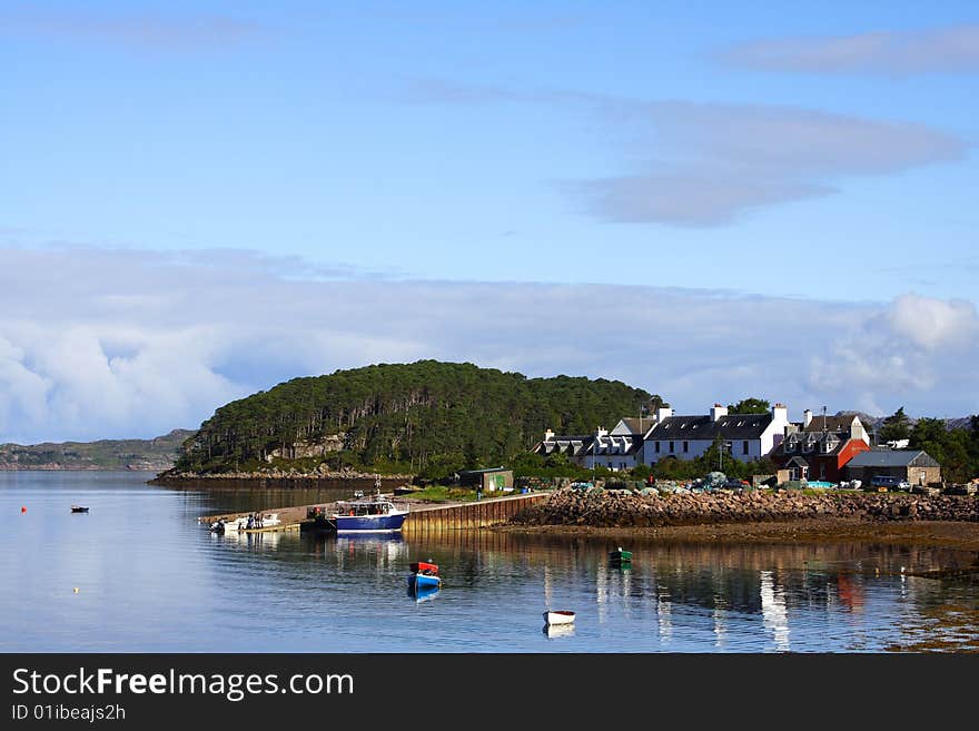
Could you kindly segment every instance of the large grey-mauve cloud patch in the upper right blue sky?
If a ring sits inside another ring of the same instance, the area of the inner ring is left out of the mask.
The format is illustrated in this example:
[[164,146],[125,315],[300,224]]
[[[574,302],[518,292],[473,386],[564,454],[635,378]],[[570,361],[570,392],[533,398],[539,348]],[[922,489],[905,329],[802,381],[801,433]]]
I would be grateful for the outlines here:
[[[637,101],[555,90],[417,81],[412,101],[536,103],[600,116],[632,169],[563,182],[611,223],[719,226],[749,210],[838,192],[852,176],[962,159],[968,145],[924,125],[801,107]],[[627,134],[625,134],[627,131]]]

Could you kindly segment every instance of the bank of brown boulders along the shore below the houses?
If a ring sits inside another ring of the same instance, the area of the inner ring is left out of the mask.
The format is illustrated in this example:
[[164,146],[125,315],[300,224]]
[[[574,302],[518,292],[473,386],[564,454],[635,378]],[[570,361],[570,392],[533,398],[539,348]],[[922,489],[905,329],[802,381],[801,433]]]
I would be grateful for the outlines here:
[[972,495],[745,491],[685,495],[636,495],[616,491],[560,490],[510,520],[514,526],[642,529],[724,523],[770,523],[844,518],[979,522]]

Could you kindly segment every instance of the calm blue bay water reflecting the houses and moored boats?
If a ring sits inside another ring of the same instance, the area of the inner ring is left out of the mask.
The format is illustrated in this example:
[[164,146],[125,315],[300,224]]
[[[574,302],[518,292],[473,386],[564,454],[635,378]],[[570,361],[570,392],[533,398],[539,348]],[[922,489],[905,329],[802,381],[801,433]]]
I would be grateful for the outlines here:
[[[970,565],[975,552],[634,543],[621,570],[602,540],[219,536],[197,517],[347,491],[188,491],[146,478],[0,473],[0,650],[979,650],[979,584],[908,575]],[[72,514],[73,503],[91,512]],[[418,560],[444,576],[424,601],[407,592]],[[573,628],[548,633],[548,606],[574,610]]]

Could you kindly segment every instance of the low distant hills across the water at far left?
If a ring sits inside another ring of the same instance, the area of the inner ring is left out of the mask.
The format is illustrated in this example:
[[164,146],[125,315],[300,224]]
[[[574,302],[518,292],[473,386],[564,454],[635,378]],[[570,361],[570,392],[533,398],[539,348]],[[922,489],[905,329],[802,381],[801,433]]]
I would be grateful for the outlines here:
[[146,470],[174,466],[180,445],[194,434],[174,429],[152,439],[101,439],[53,444],[0,444],[0,470]]

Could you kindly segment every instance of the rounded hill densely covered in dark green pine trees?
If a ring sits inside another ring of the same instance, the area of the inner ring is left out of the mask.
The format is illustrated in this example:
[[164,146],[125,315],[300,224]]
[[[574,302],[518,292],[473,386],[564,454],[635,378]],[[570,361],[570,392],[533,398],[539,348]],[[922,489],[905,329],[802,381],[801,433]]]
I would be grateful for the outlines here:
[[545,428],[611,427],[650,397],[604,378],[527,378],[437,360],[372,365],[295,378],[218,408],[187,442],[176,471],[286,462],[418,474],[496,465],[526,452]]

